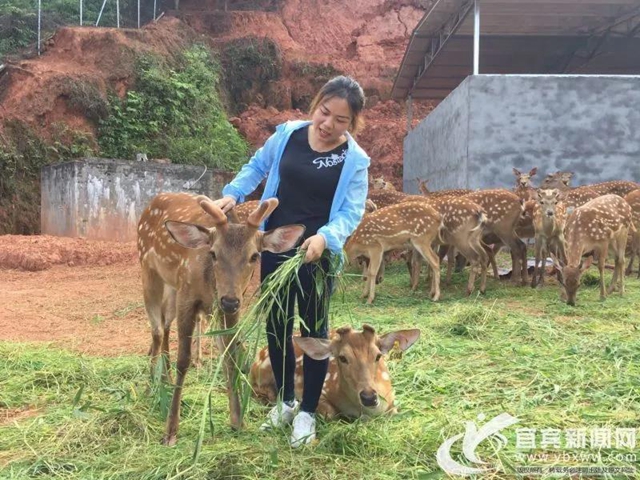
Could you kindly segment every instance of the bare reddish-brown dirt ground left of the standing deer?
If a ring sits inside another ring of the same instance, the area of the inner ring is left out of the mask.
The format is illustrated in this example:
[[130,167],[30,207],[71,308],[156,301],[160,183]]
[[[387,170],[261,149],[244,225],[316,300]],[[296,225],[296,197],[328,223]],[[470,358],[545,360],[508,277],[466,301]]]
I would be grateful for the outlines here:
[[[8,241],[10,237],[10,242]],[[30,258],[50,249],[85,255],[82,265],[61,261],[39,271],[7,258]],[[114,251],[119,251],[115,255]],[[105,258],[111,255],[110,264]],[[248,293],[257,287],[257,275]],[[174,326],[175,327],[175,326]],[[172,334],[175,349],[176,334]],[[142,302],[135,244],[43,236],[0,237],[0,340],[51,342],[89,355],[146,354],[151,335]],[[206,343],[206,342],[205,342]],[[206,350],[205,350],[206,352]]]

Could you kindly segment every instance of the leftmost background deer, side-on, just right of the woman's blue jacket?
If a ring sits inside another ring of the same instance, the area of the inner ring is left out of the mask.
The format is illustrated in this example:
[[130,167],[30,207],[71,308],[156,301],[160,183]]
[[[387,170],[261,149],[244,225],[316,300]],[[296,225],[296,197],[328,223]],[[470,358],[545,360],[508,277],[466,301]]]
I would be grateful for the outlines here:
[[353,264],[362,256],[368,259],[363,298],[373,303],[378,271],[385,252],[412,246],[433,270],[431,299],[440,298],[440,260],[431,248],[440,238],[442,216],[426,203],[409,202],[380,208],[365,215],[347,240],[345,253]]

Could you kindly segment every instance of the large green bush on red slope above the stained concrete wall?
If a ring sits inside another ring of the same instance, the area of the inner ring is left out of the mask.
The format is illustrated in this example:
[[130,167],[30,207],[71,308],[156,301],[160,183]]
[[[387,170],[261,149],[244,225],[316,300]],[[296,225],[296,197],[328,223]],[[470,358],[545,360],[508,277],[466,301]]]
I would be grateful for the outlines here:
[[182,52],[176,65],[141,57],[135,88],[112,95],[98,129],[100,154],[132,159],[136,152],[174,163],[235,170],[248,145],[228,122],[218,97],[220,67],[203,46]]

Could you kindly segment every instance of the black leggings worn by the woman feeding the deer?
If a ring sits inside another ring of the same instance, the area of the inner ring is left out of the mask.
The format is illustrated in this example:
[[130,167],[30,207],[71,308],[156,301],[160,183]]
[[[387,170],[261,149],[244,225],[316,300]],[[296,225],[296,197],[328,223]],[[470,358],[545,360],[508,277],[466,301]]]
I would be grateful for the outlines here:
[[[295,254],[290,250],[282,254],[262,252],[260,267],[260,280],[264,279],[278,268],[280,264]],[[320,261],[325,272],[329,271],[329,260],[323,257]],[[318,269],[317,263],[304,264],[298,271],[300,287],[294,280],[289,290],[289,295],[282,292],[279,296],[281,305],[286,305],[286,318],[282,309],[274,304],[267,319],[267,341],[269,343],[269,359],[276,379],[278,395],[285,402],[295,399],[294,376],[296,370],[296,357],[293,351],[293,320],[294,303],[298,299],[298,312],[308,328],[300,325],[303,337],[327,338],[328,337],[328,310],[329,297],[331,295],[331,278],[325,277],[326,282],[322,294],[318,296],[314,274]],[[285,340],[286,334],[286,340]],[[318,407],[324,377],[327,374],[329,360],[314,360],[304,356],[302,366],[304,372],[304,390],[300,409],[308,413],[314,413]]]

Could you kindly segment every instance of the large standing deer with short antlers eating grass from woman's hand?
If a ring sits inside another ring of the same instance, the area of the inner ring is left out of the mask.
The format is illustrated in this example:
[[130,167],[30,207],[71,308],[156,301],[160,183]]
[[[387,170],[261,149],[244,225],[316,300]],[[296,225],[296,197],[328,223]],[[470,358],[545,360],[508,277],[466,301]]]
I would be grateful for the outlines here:
[[[169,332],[178,323],[177,377],[162,443],[177,442],[184,379],[191,362],[191,339],[198,317],[213,313],[223,329],[238,321],[242,297],[260,252],[285,252],[304,233],[302,225],[261,232],[259,226],[278,206],[275,198],[262,202],[240,224],[229,223],[222,210],[204,195],[161,193],[154,197],[138,222],[138,255],[142,269],[145,309],[151,324],[151,372],[162,351],[163,377],[170,380]],[[167,301],[172,298],[173,301]],[[239,344],[232,335],[217,337],[224,357],[230,420],[242,428],[237,379]]]

